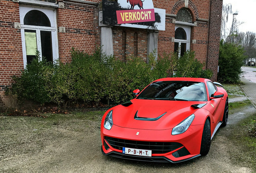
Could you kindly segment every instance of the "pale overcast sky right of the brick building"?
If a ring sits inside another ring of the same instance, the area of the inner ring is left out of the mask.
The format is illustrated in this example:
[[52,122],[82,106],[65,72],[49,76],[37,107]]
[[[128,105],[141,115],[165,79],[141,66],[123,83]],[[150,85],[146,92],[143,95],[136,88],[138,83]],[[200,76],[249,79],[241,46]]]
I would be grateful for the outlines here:
[[[238,27],[239,32],[256,32],[256,0],[223,0],[223,5],[232,5],[232,13],[237,12],[235,18],[244,24]],[[229,14],[229,26],[231,28],[233,14]]]

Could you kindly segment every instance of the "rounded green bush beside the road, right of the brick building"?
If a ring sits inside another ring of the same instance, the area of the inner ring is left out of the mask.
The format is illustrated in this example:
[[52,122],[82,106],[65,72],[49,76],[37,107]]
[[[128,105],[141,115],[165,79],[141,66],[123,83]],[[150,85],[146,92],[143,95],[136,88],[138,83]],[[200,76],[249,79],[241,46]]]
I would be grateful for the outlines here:
[[244,58],[244,48],[242,46],[221,40],[218,81],[222,83],[238,83]]

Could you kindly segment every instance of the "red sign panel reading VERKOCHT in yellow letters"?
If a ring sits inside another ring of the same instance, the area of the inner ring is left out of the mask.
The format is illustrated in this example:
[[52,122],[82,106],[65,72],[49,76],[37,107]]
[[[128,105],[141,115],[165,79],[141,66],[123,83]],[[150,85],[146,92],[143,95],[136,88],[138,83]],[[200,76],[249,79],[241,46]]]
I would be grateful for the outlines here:
[[155,10],[118,10],[116,11],[118,24],[155,21]]

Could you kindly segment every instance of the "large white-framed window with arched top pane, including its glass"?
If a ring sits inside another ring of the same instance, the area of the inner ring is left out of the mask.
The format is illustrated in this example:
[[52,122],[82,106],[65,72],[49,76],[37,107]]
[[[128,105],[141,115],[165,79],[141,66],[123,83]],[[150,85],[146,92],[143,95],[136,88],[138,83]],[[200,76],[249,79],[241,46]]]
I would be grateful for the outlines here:
[[48,62],[58,58],[56,10],[20,6],[24,67],[40,52]]

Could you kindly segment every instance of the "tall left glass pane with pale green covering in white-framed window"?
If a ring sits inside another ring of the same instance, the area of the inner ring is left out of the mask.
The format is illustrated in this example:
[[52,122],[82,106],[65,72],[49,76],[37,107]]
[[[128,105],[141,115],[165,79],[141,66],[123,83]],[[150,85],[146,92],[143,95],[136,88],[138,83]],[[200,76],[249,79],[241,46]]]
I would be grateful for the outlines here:
[[37,36],[35,30],[25,30],[25,44],[27,63],[30,63],[35,57],[35,52],[37,51]]

